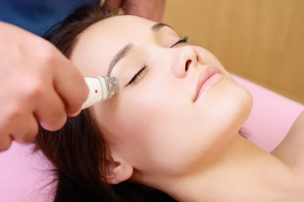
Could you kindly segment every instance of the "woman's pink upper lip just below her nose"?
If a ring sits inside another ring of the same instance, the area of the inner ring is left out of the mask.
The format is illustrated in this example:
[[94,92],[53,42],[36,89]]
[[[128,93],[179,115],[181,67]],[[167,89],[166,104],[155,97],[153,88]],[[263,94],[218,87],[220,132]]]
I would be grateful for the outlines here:
[[207,66],[206,68],[204,68],[202,71],[200,71],[198,73],[197,76],[197,82],[196,82],[196,86],[195,86],[195,91],[194,91],[194,102],[195,100],[198,98],[200,89],[202,87],[202,85],[205,83],[205,81],[207,81],[211,76],[213,76],[216,73],[222,73],[219,68],[214,67],[214,66]]

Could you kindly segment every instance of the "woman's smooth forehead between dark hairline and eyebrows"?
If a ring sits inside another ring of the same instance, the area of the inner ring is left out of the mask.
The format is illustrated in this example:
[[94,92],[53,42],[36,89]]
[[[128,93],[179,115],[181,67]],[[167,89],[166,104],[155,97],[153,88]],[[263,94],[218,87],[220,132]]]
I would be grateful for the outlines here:
[[155,22],[136,16],[115,16],[100,21],[78,38],[71,61],[85,77],[106,75],[111,59],[127,43],[150,39]]

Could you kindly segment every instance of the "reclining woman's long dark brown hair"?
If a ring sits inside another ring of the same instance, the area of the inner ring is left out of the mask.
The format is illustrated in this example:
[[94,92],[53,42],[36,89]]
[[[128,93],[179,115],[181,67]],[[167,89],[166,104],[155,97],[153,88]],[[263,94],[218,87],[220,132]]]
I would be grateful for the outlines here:
[[[67,58],[70,57],[78,36],[91,25],[117,15],[91,3],[75,9],[62,22],[54,25],[44,37]],[[122,182],[107,183],[107,142],[104,131],[95,120],[92,108],[77,117],[68,117],[64,127],[50,132],[40,127],[35,139],[36,149],[54,166],[59,201],[176,201],[167,194],[143,185]]]

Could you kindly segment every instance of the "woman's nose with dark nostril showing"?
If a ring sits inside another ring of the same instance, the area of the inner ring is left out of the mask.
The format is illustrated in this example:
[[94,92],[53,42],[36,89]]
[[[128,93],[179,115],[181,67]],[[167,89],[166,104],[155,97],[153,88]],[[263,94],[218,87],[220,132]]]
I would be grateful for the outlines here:
[[198,63],[198,55],[191,45],[174,48],[171,71],[176,78],[184,78],[188,71],[195,68]]

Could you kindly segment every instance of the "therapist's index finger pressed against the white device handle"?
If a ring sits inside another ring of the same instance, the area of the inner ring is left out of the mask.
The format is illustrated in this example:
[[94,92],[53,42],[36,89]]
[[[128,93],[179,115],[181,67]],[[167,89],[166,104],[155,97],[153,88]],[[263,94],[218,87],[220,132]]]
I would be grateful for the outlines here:
[[84,77],[69,60],[57,65],[54,86],[65,104],[67,115],[77,113],[89,95]]

